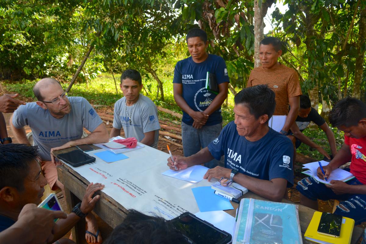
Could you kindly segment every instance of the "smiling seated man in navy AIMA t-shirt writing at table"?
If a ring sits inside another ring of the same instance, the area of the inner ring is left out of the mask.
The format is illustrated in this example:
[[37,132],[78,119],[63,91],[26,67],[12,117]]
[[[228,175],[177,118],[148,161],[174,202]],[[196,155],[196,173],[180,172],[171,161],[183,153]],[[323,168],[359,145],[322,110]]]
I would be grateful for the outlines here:
[[272,201],[281,201],[286,187],[294,182],[294,147],[286,136],[268,127],[275,111],[275,93],[267,85],[248,87],[234,99],[235,120],[220,136],[190,157],[168,158],[168,166],[179,169],[203,164],[224,155],[225,168],[209,169],[204,179],[234,180],[250,191]]

